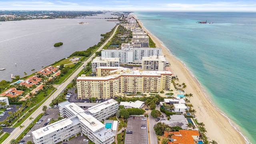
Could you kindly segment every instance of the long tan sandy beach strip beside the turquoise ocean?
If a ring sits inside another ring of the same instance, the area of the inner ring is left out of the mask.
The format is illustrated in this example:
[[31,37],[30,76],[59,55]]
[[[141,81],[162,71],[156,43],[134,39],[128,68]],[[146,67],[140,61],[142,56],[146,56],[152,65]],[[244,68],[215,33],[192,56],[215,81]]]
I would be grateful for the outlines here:
[[[133,15],[134,16],[134,15]],[[136,18],[136,16],[134,16]],[[136,18],[138,19],[138,18]],[[153,36],[138,20],[140,26],[148,33],[150,38],[156,43],[156,47],[162,48],[162,55],[165,55],[170,66],[179,78],[179,83],[185,83],[187,88],[186,93],[192,93],[190,99],[193,108],[196,110],[196,119],[198,122],[203,122],[207,130],[206,136],[209,140],[215,140],[218,144],[246,144],[246,140],[229,122],[226,116],[222,115],[214,105],[208,100],[204,90],[186,69],[184,64],[172,56],[170,51],[162,45],[160,40]]]

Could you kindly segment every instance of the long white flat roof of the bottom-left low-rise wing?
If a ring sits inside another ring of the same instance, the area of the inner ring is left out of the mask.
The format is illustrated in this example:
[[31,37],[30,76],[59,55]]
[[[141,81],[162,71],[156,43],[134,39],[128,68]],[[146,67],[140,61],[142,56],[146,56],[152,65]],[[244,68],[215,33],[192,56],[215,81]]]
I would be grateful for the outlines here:
[[34,138],[38,139],[52,132],[56,132],[57,130],[60,130],[61,128],[64,128],[72,123],[72,120],[64,118],[58,122],[54,122],[53,124],[39,128],[38,130],[33,131],[32,134]]

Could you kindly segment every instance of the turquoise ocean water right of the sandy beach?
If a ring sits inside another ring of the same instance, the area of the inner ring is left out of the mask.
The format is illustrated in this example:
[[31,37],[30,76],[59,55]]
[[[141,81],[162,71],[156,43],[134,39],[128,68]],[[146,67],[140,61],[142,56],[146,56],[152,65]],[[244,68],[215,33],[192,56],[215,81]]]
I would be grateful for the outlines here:
[[[256,13],[133,14],[186,64],[214,105],[256,144]],[[213,24],[196,23],[205,20]]]

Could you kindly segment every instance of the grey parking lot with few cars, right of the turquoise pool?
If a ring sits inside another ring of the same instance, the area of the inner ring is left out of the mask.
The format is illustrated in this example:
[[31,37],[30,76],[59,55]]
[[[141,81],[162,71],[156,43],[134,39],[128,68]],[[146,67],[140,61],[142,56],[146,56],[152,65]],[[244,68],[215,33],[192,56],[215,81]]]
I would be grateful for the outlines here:
[[130,116],[127,123],[127,131],[124,144],[148,144],[147,120],[142,120],[143,116]]

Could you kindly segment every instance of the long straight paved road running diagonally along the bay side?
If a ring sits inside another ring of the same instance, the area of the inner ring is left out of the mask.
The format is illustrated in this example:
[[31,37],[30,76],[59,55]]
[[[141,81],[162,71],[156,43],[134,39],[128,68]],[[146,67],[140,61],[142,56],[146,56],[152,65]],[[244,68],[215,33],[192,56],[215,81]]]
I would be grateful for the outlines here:
[[[97,50],[100,51],[102,50],[102,48],[108,43],[109,40],[111,40],[111,38],[114,36],[114,34],[116,33],[118,26],[116,27],[115,31],[113,32],[112,36],[110,36],[110,38],[108,40],[106,40],[106,42]],[[52,102],[53,98],[56,98],[58,96],[58,94],[60,94],[62,92],[62,90],[64,90],[66,88],[66,86],[78,75],[78,73],[80,71],[82,71],[82,69],[84,68],[83,66],[86,66],[86,64],[88,62],[90,62],[92,60],[92,58],[95,56],[95,53],[92,54],[92,56],[90,58],[88,58],[88,60],[86,60],[86,62],[84,62],[84,64],[82,64],[82,66],[80,66],[80,68],[78,68],[73,74],[72,76],[70,76],[68,78],[68,80],[66,80],[66,82],[60,84],[59,86],[57,86],[57,90],[52,94],[52,96],[50,96],[41,106],[39,106],[37,108],[37,110],[31,114],[30,116],[32,118],[36,118],[40,113],[43,113],[42,107],[44,105],[49,106],[49,104]],[[28,127],[28,125],[31,123],[31,121],[29,119],[26,119],[21,125],[24,125],[25,128]],[[23,129],[25,129],[23,128]],[[8,136],[8,138],[6,138],[6,140],[4,140],[3,144],[9,144],[10,140],[12,139],[17,139],[18,136],[20,134],[22,134],[23,130],[20,129],[19,127],[15,128],[11,133],[10,136]]]

